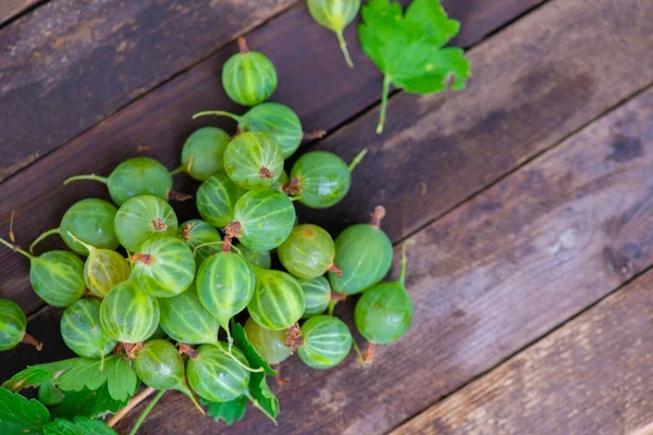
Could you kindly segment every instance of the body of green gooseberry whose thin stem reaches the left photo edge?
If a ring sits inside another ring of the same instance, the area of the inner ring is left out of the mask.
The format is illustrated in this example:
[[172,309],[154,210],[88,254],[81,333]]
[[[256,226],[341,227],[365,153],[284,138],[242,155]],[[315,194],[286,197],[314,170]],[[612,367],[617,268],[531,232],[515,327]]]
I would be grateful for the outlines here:
[[84,263],[69,251],[49,251],[30,259],[32,288],[46,303],[67,307],[84,295]]

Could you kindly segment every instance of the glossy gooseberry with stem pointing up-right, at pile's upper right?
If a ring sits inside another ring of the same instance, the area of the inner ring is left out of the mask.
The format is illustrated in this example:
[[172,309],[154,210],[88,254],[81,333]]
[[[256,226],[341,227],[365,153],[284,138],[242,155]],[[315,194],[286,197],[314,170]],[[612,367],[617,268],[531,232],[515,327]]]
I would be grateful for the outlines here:
[[352,185],[349,167],[329,151],[311,151],[301,156],[291,170],[296,178],[299,202],[313,209],[324,209],[340,202]]

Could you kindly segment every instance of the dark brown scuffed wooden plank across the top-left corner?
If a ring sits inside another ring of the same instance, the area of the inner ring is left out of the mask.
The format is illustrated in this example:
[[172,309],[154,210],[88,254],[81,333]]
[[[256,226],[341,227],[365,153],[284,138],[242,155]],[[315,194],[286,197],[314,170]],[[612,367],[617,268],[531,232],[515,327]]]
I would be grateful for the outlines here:
[[296,2],[58,0],[7,26],[0,181]]

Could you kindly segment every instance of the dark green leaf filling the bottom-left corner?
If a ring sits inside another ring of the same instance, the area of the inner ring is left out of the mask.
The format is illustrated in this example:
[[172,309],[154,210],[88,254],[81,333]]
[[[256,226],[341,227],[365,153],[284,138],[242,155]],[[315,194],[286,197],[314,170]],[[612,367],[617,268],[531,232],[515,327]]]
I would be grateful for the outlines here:
[[27,400],[17,393],[0,388],[2,434],[42,434],[50,412],[38,400]]

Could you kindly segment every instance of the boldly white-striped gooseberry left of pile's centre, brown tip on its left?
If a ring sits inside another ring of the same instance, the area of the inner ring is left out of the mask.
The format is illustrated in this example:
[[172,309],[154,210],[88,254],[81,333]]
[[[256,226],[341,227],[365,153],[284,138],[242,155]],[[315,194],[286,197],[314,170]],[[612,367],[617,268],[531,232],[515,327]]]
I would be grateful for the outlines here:
[[141,289],[158,298],[180,295],[195,279],[195,258],[176,237],[157,237],[140,245],[132,257],[132,276]]

